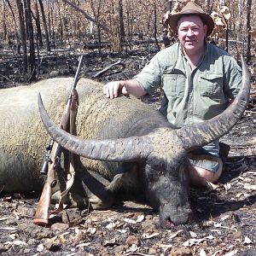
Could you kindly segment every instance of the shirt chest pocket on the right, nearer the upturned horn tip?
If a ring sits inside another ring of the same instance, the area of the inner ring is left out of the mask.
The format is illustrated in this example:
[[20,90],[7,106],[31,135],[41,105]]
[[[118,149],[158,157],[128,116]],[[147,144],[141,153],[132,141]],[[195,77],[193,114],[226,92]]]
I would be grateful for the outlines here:
[[201,73],[200,95],[221,100],[223,97],[223,74]]

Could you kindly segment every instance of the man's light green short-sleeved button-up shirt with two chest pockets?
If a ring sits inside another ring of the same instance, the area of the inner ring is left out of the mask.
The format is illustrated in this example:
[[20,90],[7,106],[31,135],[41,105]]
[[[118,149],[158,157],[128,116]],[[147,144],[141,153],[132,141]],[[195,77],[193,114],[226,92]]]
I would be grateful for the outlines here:
[[192,70],[177,43],[154,55],[134,79],[149,95],[164,90],[161,112],[179,128],[222,113],[241,87],[241,67],[224,49],[206,44]]

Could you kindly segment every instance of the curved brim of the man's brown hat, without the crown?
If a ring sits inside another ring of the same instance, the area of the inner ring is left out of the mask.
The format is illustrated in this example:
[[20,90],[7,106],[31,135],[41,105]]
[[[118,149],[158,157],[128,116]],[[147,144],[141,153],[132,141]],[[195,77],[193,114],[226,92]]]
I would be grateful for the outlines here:
[[214,21],[212,20],[212,17],[207,14],[201,14],[199,12],[191,13],[188,12],[183,12],[182,14],[177,14],[177,15],[172,15],[168,18],[168,23],[172,28],[172,31],[177,33],[177,21],[183,16],[183,15],[197,15],[201,17],[201,20],[203,21],[204,24],[207,25],[207,37],[211,35],[213,28],[214,28]]

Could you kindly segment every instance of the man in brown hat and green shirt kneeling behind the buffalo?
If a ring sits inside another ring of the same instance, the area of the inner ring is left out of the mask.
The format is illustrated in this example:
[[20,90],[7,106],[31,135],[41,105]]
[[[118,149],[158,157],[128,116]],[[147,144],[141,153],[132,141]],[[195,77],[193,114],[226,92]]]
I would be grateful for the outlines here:
[[[134,79],[105,84],[110,99],[119,93],[152,95],[164,91],[160,111],[177,128],[194,125],[222,113],[241,86],[241,68],[223,49],[207,44],[214,22],[200,6],[189,2],[168,20],[178,43],[154,55]],[[216,182],[224,163],[215,141],[189,154],[189,177],[195,185]]]

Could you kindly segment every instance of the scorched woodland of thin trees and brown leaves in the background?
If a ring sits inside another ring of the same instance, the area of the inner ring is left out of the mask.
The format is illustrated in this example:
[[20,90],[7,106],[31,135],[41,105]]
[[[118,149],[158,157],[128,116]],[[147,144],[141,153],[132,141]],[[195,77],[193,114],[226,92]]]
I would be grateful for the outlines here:
[[[26,82],[40,74],[40,61],[57,49],[81,54],[93,51],[104,57],[129,55],[143,47],[157,51],[175,42],[166,25],[168,14],[188,0],[0,0],[0,61],[21,58]],[[201,0],[216,27],[209,40],[243,54],[252,64],[255,53],[256,3],[252,0]],[[6,66],[5,66],[6,67]],[[0,79],[5,76],[0,67]]]

